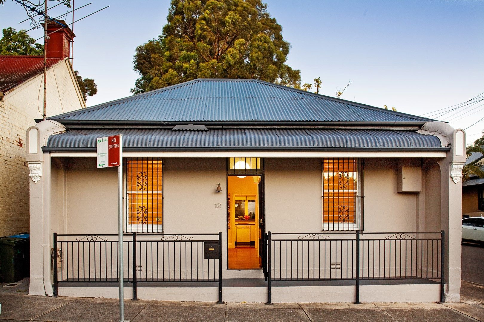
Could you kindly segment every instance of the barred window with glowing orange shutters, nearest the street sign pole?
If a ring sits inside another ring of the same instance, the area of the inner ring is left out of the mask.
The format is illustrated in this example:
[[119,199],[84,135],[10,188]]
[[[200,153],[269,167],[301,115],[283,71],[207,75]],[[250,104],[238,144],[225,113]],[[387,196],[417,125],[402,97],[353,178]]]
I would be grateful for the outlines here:
[[162,160],[128,158],[125,165],[125,231],[162,232]]

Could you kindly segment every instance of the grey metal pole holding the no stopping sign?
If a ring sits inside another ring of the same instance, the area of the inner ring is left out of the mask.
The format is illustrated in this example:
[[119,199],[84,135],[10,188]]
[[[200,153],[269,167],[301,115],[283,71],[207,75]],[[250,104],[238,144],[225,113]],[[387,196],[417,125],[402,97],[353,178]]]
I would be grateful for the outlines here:
[[[118,242],[120,259],[120,322],[124,322],[124,259],[123,259],[123,240],[122,240],[122,134],[119,135],[119,166],[118,166]],[[134,246],[133,246],[134,247]]]

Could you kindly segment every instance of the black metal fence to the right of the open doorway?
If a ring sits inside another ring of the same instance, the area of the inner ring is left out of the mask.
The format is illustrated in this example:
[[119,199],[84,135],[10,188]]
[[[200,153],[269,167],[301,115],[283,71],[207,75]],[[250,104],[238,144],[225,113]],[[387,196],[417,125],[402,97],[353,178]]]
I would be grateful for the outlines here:
[[268,303],[272,281],[427,279],[440,281],[444,231],[415,233],[267,233]]

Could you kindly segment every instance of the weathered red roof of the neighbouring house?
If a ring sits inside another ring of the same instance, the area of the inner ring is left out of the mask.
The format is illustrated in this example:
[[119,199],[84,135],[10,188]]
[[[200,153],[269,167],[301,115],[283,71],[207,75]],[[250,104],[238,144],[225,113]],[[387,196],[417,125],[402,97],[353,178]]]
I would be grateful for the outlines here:
[[[47,68],[63,58],[47,58]],[[44,56],[0,56],[0,92],[6,92],[44,72]]]

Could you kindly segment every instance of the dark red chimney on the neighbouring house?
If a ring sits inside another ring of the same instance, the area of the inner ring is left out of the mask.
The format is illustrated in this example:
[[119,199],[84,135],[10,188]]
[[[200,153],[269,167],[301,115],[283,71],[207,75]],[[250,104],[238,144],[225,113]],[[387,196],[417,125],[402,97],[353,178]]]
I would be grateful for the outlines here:
[[[67,26],[64,20],[58,20]],[[60,30],[57,30],[61,28]],[[70,44],[76,35],[69,26],[62,27],[56,22],[47,24],[47,58],[65,58],[70,56]]]

